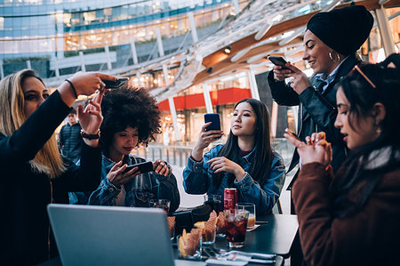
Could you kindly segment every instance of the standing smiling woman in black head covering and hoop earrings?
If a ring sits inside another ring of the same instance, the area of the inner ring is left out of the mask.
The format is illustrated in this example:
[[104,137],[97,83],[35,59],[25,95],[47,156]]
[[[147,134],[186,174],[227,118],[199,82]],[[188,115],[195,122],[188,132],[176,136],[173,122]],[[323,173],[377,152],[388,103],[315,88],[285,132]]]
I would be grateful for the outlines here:
[[[300,140],[305,141],[312,133],[326,133],[327,141],[332,143],[334,171],[347,157],[346,145],[339,130],[333,126],[337,114],[334,85],[361,62],[356,51],[370,35],[372,25],[372,14],[363,5],[316,13],[308,21],[303,39],[303,60],[308,61],[314,76],[308,79],[290,63],[286,64],[290,70],[275,66],[268,75],[276,103],[299,105]],[[284,83],[286,77],[292,77],[289,85]],[[295,152],[289,171],[298,162],[299,156]]]

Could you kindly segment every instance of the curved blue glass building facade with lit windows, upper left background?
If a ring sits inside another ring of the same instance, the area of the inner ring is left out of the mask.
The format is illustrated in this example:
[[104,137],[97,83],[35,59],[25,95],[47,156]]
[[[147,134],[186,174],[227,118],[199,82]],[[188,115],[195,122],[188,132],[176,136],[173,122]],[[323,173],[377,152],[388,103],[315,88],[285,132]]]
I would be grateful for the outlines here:
[[[241,1],[245,4],[248,1]],[[0,58],[40,56],[106,45],[149,42],[161,35],[218,23],[232,12],[230,0],[212,1],[0,1]],[[61,53],[61,54],[60,54]]]

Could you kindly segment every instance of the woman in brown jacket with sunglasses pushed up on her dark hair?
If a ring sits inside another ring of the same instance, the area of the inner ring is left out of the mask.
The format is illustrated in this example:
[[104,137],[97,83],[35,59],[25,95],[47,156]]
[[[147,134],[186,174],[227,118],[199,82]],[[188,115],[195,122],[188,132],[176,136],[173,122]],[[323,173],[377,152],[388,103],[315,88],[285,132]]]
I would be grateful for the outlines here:
[[309,265],[399,265],[400,77],[380,65],[340,81],[335,126],[351,150],[335,176],[324,133],[286,133],[303,167],[292,189]]

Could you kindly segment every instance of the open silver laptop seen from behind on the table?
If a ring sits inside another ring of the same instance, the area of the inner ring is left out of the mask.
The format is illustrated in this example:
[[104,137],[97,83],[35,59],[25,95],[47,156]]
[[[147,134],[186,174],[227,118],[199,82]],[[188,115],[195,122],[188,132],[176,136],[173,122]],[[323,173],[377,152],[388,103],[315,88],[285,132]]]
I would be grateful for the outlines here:
[[68,265],[174,265],[158,208],[47,206],[60,260]]

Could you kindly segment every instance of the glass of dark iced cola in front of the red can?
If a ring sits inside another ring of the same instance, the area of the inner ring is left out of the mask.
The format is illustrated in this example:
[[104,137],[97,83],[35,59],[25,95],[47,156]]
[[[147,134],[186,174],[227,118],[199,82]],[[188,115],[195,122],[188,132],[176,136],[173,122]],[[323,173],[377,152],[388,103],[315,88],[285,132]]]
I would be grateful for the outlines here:
[[224,215],[229,248],[243,247],[249,212],[236,209],[235,213],[224,211]]

